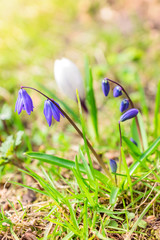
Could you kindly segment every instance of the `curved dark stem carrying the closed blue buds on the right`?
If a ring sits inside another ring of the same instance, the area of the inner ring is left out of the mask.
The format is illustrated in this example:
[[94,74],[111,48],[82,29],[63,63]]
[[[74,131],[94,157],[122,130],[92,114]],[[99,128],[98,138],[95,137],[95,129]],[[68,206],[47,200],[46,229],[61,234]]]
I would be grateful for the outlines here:
[[[128,100],[129,100],[129,102],[130,102],[130,104],[131,104],[131,107],[134,108],[134,103],[132,102],[130,96],[128,95],[128,93],[126,92],[126,90],[124,89],[124,87],[123,87],[121,84],[119,84],[119,83],[117,83],[116,81],[113,81],[113,80],[111,80],[111,79],[109,79],[109,78],[105,78],[105,79],[108,80],[108,81],[110,81],[110,82],[112,82],[112,83],[114,83],[114,84],[116,84],[116,85],[118,85],[118,86],[120,86],[120,87],[122,88],[122,91],[123,91],[123,92],[125,93],[125,95],[127,96]],[[141,129],[140,129],[140,125],[139,125],[139,121],[138,121],[137,116],[135,116],[135,120],[136,120],[136,126],[137,126],[137,131],[138,131],[139,139],[140,139],[140,142],[141,142],[142,150],[144,151],[143,139],[142,139]]]

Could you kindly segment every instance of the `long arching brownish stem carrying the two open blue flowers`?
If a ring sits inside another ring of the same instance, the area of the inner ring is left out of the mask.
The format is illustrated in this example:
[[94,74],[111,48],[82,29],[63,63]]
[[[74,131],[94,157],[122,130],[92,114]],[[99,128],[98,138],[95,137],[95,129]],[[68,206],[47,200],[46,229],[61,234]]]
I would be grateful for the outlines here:
[[[81,132],[81,130],[77,127],[77,125],[75,124],[75,122],[69,117],[69,115],[63,111],[63,109],[50,97],[48,97],[47,95],[45,95],[44,93],[42,93],[41,91],[37,90],[36,88],[32,88],[32,87],[27,87],[27,86],[22,86],[21,88],[29,88],[32,89],[38,93],[40,93],[41,95],[43,95],[45,98],[49,99],[50,101],[53,102],[53,104],[62,112],[62,114],[67,118],[67,120],[70,122],[70,124],[74,127],[74,129],[78,132],[78,134],[81,136],[81,138],[83,138],[83,133]],[[106,175],[110,178],[110,180],[113,181],[113,177],[111,175],[111,173],[109,172],[109,170],[106,168],[103,160],[101,159],[101,157],[97,154],[97,152],[95,151],[95,149],[92,147],[92,145],[90,144],[90,142],[88,141],[88,139],[86,139],[87,141],[87,145],[90,148],[91,152],[93,153],[93,155],[95,156],[95,158],[97,159],[98,163],[100,164],[100,166],[103,168],[103,170],[105,171]]]

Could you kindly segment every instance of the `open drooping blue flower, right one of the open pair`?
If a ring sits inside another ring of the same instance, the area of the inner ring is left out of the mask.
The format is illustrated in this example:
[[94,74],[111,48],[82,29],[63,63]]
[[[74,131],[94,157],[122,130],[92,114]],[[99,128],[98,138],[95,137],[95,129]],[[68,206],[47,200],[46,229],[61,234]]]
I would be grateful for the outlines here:
[[[57,102],[55,102],[58,106],[59,104]],[[49,99],[47,99],[44,102],[44,116],[47,120],[47,123],[49,125],[49,127],[52,124],[52,116],[54,117],[54,119],[59,122],[60,121],[60,114],[64,117],[64,115],[61,113],[61,111],[56,107],[56,105]]]

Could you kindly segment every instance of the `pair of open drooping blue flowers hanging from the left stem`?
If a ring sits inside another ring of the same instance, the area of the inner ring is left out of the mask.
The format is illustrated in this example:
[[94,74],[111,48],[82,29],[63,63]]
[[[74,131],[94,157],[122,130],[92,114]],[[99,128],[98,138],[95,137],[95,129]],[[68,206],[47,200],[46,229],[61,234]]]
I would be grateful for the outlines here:
[[[55,101],[54,101],[55,102]],[[55,102],[58,106],[59,104]],[[22,110],[26,111],[28,115],[33,112],[33,101],[29,94],[26,92],[25,89],[21,88],[18,93],[18,98],[15,106],[15,112],[17,111],[18,114],[22,112]],[[52,117],[59,122],[60,121],[60,115],[63,115],[63,113],[58,109],[58,107],[50,100],[47,99],[44,103],[44,116],[47,120],[47,123],[49,127],[52,124]]]

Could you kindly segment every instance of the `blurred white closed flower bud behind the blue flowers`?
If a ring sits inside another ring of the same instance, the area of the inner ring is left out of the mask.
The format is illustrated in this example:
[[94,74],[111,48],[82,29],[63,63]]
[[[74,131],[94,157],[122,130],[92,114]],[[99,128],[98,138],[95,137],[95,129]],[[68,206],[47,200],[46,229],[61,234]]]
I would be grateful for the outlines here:
[[54,77],[61,92],[76,100],[76,89],[79,97],[85,99],[85,91],[81,73],[77,66],[67,58],[56,60],[54,63]]

